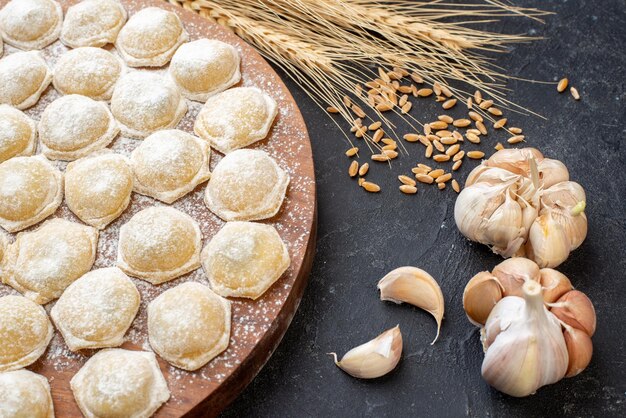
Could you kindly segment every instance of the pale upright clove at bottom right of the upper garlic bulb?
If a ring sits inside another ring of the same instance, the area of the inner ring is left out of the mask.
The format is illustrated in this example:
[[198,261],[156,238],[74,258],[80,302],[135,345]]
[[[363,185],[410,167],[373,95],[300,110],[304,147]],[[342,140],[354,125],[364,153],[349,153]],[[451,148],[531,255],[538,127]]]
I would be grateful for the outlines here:
[[545,211],[533,222],[528,233],[526,253],[540,267],[556,267],[567,259],[570,240],[551,210]]

